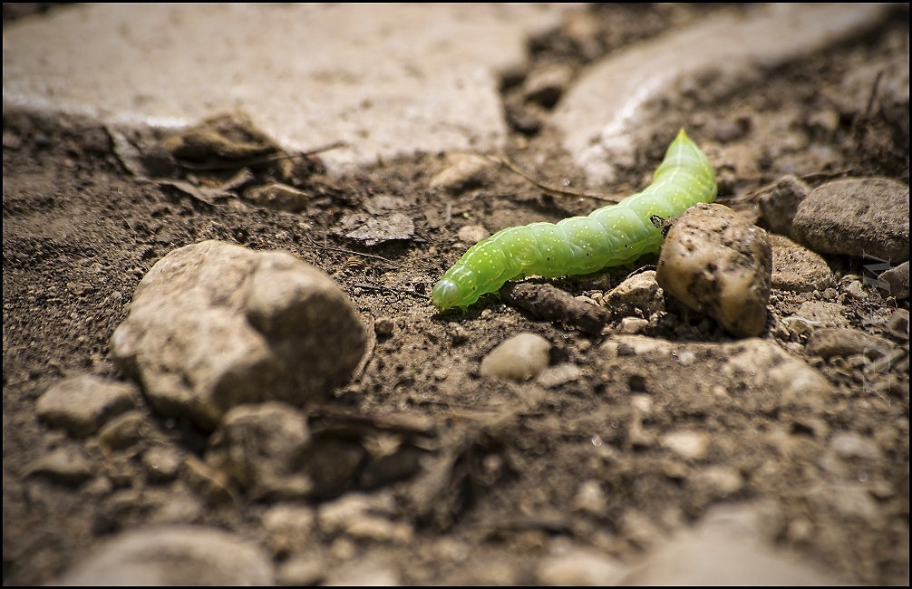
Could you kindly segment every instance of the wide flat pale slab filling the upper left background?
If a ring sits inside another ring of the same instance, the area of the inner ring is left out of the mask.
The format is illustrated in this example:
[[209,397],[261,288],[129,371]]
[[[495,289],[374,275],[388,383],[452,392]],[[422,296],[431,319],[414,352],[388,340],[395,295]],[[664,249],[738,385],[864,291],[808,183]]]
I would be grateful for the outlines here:
[[499,72],[560,5],[75,5],[3,32],[4,109],[176,127],[242,110],[331,166],[490,150]]

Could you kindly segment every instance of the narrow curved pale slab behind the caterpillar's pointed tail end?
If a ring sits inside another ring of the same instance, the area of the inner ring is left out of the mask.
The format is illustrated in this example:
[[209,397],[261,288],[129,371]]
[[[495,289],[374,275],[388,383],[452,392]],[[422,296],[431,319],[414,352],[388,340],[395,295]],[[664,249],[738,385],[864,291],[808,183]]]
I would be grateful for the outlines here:
[[773,67],[878,26],[890,10],[883,4],[777,4],[700,19],[588,67],[551,124],[591,185],[613,181],[617,166],[635,163],[659,109],[673,108],[685,94],[704,103],[723,97]]

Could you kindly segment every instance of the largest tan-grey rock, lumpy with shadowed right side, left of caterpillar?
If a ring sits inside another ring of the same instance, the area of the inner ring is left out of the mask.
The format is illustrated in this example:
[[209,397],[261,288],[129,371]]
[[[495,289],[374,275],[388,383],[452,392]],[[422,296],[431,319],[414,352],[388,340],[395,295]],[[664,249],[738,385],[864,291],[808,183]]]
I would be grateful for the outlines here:
[[325,399],[365,342],[357,312],[322,271],[291,253],[215,241],[156,263],[111,338],[154,408],[209,429],[244,403]]

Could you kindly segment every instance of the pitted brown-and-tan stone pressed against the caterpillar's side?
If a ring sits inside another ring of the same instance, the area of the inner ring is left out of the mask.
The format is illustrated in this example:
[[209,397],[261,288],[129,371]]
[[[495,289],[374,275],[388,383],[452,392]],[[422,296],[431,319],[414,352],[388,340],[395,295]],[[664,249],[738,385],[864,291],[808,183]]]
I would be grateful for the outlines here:
[[770,241],[728,207],[699,204],[668,231],[656,279],[684,305],[714,317],[735,336],[759,336],[770,300]]

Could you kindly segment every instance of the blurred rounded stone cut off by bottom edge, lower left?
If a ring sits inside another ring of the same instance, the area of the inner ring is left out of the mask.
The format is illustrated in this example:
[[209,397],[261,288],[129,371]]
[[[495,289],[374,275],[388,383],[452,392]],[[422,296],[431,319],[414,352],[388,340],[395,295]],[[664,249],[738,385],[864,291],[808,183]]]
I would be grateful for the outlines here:
[[169,526],[127,532],[66,573],[64,585],[268,585],[272,559],[233,534]]

